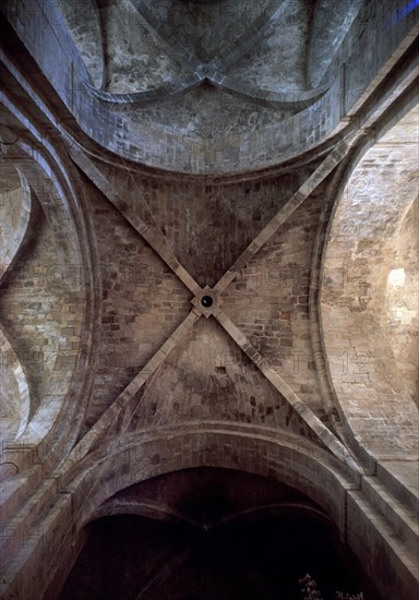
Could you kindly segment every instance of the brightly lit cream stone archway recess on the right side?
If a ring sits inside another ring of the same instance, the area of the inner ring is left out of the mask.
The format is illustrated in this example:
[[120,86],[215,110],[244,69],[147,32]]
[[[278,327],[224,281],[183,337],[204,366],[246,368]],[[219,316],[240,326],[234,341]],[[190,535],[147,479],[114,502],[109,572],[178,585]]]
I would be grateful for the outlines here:
[[323,257],[320,312],[337,408],[375,460],[418,452],[417,119],[417,106],[405,107],[356,157]]

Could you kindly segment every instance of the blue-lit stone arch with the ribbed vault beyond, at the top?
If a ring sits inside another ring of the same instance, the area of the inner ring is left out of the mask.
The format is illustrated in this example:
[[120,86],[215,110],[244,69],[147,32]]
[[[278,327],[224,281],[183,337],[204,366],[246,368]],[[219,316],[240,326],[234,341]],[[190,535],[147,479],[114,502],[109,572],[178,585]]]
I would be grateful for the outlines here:
[[367,22],[385,20],[362,0],[60,1],[45,16],[35,60],[88,135],[146,165],[208,173],[326,139],[376,67],[368,55],[359,70],[354,40],[373,44]]

